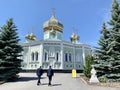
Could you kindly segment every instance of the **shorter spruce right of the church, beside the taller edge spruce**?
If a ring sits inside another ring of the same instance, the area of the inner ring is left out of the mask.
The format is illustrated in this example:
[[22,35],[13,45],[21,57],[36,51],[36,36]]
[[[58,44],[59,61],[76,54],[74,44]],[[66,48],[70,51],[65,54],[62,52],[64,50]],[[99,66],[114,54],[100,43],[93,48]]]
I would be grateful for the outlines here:
[[97,70],[98,77],[105,77],[106,73],[109,73],[109,54],[107,53],[109,45],[109,29],[107,29],[106,24],[103,23],[102,29],[100,31],[101,37],[98,41],[99,47],[96,47],[97,58],[95,60],[95,69]]

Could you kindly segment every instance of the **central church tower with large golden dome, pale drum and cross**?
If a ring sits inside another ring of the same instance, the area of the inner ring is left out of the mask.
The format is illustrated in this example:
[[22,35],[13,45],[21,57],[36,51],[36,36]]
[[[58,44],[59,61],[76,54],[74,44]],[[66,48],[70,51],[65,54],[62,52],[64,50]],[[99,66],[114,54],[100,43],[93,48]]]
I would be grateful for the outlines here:
[[43,24],[44,40],[62,40],[63,25],[55,18],[55,9],[51,18]]

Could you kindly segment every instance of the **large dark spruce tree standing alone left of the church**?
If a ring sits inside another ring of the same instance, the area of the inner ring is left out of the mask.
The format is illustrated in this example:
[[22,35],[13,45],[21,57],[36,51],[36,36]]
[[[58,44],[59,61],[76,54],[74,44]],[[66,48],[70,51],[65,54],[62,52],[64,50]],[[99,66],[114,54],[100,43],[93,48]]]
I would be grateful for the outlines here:
[[9,19],[0,31],[0,80],[7,81],[21,70],[22,47],[18,44],[20,39],[13,19]]

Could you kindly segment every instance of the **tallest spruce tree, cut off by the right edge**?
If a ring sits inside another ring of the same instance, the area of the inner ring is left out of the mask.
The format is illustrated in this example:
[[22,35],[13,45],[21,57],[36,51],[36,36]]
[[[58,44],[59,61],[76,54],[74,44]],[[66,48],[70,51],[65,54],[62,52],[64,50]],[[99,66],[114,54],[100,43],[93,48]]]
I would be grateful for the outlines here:
[[110,73],[106,77],[112,81],[120,81],[120,6],[117,0],[112,3],[111,19],[108,22],[110,28],[110,43],[108,54]]

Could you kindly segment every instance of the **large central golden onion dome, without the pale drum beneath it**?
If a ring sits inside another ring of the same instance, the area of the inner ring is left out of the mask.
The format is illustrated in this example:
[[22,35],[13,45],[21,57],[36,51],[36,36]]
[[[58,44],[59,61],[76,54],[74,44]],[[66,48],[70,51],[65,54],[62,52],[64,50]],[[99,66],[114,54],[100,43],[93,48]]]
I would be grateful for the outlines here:
[[63,25],[62,23],[60,23],[56,18],[55,18],[55,15],[54,13],[52,14],[51,18],[46,21],[44,24],[43,24],[43,29],[44,31],[46,30],[52,30],[52,28],[54,30],[58,30],[60,32],[63,32]]

